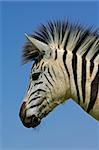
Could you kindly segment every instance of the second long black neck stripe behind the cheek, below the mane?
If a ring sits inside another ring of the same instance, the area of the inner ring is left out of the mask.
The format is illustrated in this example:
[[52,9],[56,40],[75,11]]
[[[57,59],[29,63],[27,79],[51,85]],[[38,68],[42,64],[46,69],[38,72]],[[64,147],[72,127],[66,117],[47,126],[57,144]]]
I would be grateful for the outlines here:
[[72,68],[73,68],[74,82],[75,82],[76,91],[77,91],[78,104],[80,104],[80,95],[79,95],[79,89],[78,89],[78,83],[77,83],[77,55],[76,54],[73,54]]

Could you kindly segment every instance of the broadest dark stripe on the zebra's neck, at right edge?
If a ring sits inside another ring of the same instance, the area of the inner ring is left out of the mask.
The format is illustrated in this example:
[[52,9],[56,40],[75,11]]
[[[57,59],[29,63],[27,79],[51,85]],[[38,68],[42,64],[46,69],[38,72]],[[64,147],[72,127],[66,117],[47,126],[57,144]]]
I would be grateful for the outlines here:
[[91,93],[90,93],[90,102],[87,108],[87,112],[89,113],[91,109],[93,109],[94,104],[96,102],[97,94],[98,94],[98,86],[99,86],[99,66],[98,71],[94,80],[91,83]]

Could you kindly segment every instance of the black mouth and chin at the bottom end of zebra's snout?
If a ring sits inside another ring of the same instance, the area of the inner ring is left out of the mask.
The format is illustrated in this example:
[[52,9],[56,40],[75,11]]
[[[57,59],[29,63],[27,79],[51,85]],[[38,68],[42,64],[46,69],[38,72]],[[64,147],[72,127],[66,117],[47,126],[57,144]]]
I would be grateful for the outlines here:
[[24,118],[22,121],[23,125],[27,128],[35,128],[40,124],[41,120],[36,117],[35,115],[32,115],[31,117]]

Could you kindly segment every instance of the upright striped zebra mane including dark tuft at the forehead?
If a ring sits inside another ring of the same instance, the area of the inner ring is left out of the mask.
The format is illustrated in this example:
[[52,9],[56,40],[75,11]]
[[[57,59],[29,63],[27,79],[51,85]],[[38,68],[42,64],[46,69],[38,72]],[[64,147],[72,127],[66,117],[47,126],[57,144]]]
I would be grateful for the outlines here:
[[[68,21],[49,21],[47,25],[41,25],[38,31],[30,35],[31,37],[44,42],[45,44],[59,49],[73,50],[80,47],[81,44],[88,48],[88,43],[96,42],[94,49],[99,48],[98,30],[92,31],[92,28],[84,28],[78,24],[71,24]],[[23,49],[23,62],[40,61],[43,54],[30,41],[26,43]]]

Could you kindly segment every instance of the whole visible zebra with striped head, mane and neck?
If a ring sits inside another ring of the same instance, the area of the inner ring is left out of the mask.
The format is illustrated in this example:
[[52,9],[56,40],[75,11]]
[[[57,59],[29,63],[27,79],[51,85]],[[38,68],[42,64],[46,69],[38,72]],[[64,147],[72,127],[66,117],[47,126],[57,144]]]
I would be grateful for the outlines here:
[[23,63],[33,62],[19,116],[35,128],[56,106],[72,99],[99,120],[98,30],[54,20],[26,34]]

